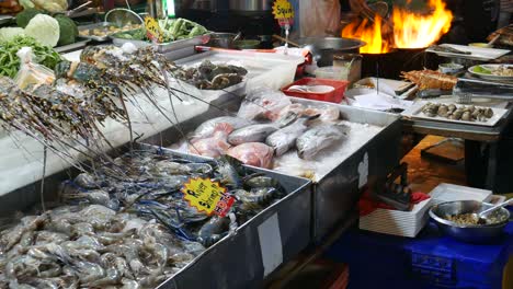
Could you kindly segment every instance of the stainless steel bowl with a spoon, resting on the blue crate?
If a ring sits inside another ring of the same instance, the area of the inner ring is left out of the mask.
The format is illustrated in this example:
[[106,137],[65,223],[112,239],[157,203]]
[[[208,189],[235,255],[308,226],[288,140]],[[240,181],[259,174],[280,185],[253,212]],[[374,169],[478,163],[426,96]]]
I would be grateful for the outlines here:
[[500,210],[487,216],[495,218],[498,222],[490,224],[458,224],[445,219],[446,216],[459,213],[480,212],[492,207],[477,200],[456,200],[435,205],[430,210],[430,217],[436,222],[438,229],[447,235],[467,243],[488,243],[501,236],[504,227],[510,221],[510,211],[501,208]]

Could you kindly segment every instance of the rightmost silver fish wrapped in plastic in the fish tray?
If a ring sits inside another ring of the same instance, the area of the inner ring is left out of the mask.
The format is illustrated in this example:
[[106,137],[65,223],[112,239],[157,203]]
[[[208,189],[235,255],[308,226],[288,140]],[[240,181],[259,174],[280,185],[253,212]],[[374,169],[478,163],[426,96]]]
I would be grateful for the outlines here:
[[297,138],[297,154],[304,160],[311,160],[318,152],[342,139],[347,130],[349,127],[342,125],[314,127]]

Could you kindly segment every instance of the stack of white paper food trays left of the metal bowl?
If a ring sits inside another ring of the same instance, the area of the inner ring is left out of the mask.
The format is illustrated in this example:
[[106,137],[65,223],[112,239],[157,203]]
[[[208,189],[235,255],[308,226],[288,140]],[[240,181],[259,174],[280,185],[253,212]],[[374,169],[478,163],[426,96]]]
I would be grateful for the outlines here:
[[411,211],[376,209],[360,217],[360,229],[384,234],[414,238],[428,223],[432,199],[413,206]]

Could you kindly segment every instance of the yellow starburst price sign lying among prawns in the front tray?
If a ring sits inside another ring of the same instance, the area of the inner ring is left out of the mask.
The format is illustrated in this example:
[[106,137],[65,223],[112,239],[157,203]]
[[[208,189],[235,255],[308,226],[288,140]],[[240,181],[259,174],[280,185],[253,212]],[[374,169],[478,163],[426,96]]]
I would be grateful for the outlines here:
[[208,178],[191,178],[182,188],[183,198],[191,207],[208,216],[225,217],[233,205],[235,198],[218,182]]

